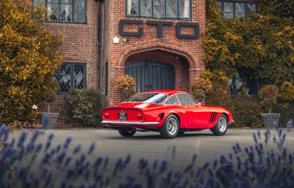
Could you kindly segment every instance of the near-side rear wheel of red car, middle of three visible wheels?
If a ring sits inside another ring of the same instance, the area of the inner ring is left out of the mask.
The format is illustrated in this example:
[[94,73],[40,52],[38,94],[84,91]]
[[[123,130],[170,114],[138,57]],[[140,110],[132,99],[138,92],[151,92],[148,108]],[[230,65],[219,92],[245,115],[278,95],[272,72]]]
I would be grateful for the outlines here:
[[159,128],[159,133],[164,139],[174,139],[180,129],[179,120],[175,115],[169,115],[163,125]]

